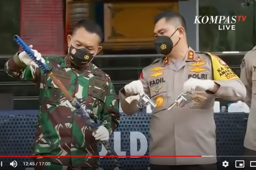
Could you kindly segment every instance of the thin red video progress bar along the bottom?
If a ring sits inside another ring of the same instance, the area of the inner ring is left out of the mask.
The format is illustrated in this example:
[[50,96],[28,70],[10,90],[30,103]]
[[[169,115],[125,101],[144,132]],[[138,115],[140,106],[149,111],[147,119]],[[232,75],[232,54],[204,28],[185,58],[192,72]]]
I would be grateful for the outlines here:
[[202,155],[0,155],[0,157],[202,157]]

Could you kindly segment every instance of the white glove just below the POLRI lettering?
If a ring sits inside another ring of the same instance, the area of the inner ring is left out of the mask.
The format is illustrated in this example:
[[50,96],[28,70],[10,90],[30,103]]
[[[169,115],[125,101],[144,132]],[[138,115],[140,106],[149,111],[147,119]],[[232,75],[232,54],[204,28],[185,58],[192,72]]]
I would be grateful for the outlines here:
[[213,80],[200,80],[190,78],[187,80],[183,85],[184,92],[193,93],[195,91],[212,91],[214,88],[214,81]]

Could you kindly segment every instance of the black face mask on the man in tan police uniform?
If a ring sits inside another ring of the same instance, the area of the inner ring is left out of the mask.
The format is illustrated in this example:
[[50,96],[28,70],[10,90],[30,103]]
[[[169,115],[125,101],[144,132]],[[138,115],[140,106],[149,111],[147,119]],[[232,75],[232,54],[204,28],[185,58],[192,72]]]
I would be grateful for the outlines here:
[[[176,29],[175,31],[174,31],[174,33],[177,31],[178,29]],[[174,34],[173,33],[173,34]],[[173,46],[173,42],[172,42],[172,39],[171,39],[171,37],[173,36],[173,34],[170,36],[170,37],[168,37],[168,36],[157,36],[156,37],[156,40],[155,40],[155,43],[154,43],[154,45],[155,45],[155,49],[156,49],[156,52],[158,53],[158,54],[164,54],[164,55],[168,55],[171,51],[172,51],[172,49],[173,49],[173,47],[175,47],[178,43],[179,43],[179,41],[180,41],[180,39],[177,41],[177,43]]]

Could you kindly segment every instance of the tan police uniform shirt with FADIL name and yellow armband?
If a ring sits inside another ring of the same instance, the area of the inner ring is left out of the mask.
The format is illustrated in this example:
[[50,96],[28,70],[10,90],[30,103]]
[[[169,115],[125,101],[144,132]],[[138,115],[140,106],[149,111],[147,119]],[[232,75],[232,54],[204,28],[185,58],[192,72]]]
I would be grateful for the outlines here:
[[[150,155],[213,155],[214,157],[151,157],[156,165],[196,165],[216,163],[216,135],[213,117],[214,98],[242,100],[245,87],[239,77],[216,55],[195,52],[189,48],[182,67],[177,69],[168,58],[155,60],[142,70],[145,94],[157,107],[150,121]],[[168,106],[183,92],[189,78],[211,79],[220,85],[214,95],[203,103],[176,107]],[[137,102],[125,101],[129,95],[124,88],[119,92],[123,112],[131,115],[138,111]]]

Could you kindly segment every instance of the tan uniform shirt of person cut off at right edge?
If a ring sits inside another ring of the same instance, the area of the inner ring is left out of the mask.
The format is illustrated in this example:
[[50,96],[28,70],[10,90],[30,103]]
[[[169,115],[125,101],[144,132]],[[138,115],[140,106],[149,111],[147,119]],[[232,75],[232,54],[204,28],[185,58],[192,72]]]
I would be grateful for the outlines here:
[[256,46],[243,58],[241,81],[247,91],[245,102],[250,107],[244,147],[256,151]]

